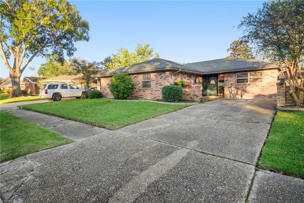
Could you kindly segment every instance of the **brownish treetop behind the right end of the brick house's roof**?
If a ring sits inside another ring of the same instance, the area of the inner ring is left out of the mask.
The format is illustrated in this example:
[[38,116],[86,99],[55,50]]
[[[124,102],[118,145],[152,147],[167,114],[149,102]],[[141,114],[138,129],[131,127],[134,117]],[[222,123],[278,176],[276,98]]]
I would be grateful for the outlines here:
[[252,53],[252,48],[248,45],[248,41],[235,40],[230,44],[230,48],[227,49],[230,55],[226,58],[235,57],[243,59],[255,59]]

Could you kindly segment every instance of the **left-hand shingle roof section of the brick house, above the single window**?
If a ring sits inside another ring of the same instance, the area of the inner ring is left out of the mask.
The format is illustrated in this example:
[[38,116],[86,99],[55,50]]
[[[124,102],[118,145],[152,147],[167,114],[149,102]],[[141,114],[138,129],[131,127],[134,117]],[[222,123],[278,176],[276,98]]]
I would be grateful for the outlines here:
[[122,74],[122,73],[134,73],[134,72],[136,73],[136,72],[159,70],[159,69],[165,69],[165,68],[168,68],[168,69],[174,68],[174,69],[184,69],[184,70],[188,70],[188,71],[196,71],[195,69],[190,68],[188,66],[185,66],[181,63],[169,61],[169,60],[166,60],[166,59],[151,59],[151,60],[148,60],[148,61],[133,64],[133,65],[130,65],[130,66],[124,66],[124,67],[118,68],[118,69],[103,70],[103,71],[93,75],[93,77],[116,75],[116,74]]

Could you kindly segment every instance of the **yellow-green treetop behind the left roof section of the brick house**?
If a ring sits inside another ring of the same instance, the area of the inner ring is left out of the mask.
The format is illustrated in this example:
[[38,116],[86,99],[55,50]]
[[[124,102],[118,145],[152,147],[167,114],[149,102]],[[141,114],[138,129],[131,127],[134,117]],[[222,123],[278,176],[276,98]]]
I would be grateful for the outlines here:
[[[154,48],[150,48],[149,44],[144,46],[137,44],[135,52],[129,52],[127,48],[122,47],[117,49],[117,51],[118,52],[113,54],[112,57],[108,56],[102,61],[104,69],[117,69],[154,58]],[[160,58],[160,55],[157,52],[155,54],[155,58]]]

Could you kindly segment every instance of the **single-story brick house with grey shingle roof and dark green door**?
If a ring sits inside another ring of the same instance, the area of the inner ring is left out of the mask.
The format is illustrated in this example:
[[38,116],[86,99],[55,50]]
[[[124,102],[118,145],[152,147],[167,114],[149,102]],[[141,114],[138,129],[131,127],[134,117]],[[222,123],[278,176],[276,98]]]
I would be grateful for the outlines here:
[[[194,91],[185,91],[198,100],[201,96],[225,98],[269,98],[277,96],[279,67],[270,61],[257,59],[225,58],[181,64],[165,59],[152,59],[119,69],[101,71],[97,89],[106,98],[112,98],[107,84],[116,74],[132,76],[135,89],[130,98],[161,99],[161,89],[177,80],[191,78]],[[219,95],[219,86],[224,87]],[[189,96],[189,95],[188,95]]]

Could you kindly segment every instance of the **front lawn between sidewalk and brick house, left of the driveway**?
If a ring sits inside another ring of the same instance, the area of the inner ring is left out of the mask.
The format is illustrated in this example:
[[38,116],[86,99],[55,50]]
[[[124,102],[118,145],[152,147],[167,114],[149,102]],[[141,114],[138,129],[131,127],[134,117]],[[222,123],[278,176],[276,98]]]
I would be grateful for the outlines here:
[[73,99],[19,107],[116,130],[186,106],[188,105],[107,99]]

